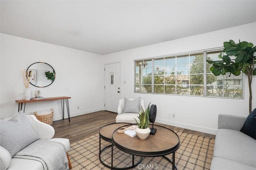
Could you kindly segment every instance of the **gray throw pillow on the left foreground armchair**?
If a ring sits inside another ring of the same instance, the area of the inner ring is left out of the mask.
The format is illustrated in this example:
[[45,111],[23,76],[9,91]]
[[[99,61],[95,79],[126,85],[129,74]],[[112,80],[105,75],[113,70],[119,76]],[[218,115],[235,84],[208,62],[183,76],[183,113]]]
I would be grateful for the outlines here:
[[0,121],[0,136],[0,146],[8,150],[11,156],[40,139],[23,111],[9,121]]

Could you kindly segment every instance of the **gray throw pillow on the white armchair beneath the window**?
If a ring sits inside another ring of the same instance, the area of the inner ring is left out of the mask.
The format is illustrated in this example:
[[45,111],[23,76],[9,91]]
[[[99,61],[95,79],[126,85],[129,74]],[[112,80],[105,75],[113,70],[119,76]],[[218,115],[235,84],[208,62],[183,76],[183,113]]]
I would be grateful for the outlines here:
[[140,97],[134,100],[124,98],[123,113],[140,113]]

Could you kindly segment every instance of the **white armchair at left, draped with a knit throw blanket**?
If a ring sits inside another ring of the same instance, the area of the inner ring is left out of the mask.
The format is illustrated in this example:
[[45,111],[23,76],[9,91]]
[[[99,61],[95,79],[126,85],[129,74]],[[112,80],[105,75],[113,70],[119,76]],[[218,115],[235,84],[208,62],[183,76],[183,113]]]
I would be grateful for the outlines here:
[[[70,143],[68,139],[64,138],[52,138],[54,136],[54,128],[51,125],[42,123],[34,115],[26,115],[30,125],[43,140],[50,140],[60,142],[66,147],[66,152],[70,149]],[[3,119],[1,121],[8,121],[10,118]],[[69,159],[69,158],[68,158]],[[30,159],[12,158],[10,153],[0,146],[0,170],[44,170],[41,162]]]

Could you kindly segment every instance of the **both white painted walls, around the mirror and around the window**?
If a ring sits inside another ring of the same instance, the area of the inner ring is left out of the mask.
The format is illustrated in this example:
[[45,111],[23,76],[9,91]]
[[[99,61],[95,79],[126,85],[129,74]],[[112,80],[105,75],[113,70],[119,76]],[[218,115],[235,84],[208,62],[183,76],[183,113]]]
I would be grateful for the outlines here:
[[[96,55],[30,39],[2,34],[0,51],[0,118],[11,117],[18,111],[15,100],[24,98],[21,70],[32,63],[43,61],[56,70],[56,80],[46,88],[30,85],[41,96],[71,96],[71,116],[102,110],[103,64],[121,62],[121,98],[141,97],[145,105],[156,104],[157,122],[187,129],[216,133],[218,114],[248,115],[248,81],[245,77],[244,100],[201,98],[134,93],[134,60],[175,53],[184,53],[221,47],[224,41],[248,41],[256,45],[256,23],[240,25],[146,47],[109,55]],[[126,81],[126,84],[124,84]],[[256,77],[253,80],[256,86]],[[80,109],[77,109],[80,106]],[[253,88],[253,108],[256,107],[256,89]],[[26,105],[26,114],[34,111],[55,110],[54,120],[61,119],[60,101],[37,102]],[[168,117],[175,113],[176,118]],[[65,117],[67,114],[65,113]]]

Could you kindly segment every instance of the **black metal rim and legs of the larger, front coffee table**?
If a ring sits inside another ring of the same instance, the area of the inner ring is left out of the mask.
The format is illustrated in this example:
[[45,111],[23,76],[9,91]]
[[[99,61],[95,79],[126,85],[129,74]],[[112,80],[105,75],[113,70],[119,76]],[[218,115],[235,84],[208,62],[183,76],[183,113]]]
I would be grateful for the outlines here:
[[[157,126],[160,126],[160,125],[157,125]],[[163,126],[160,126],[160,127],[163,127]],[[164,127],[164,128],[166,128],[166,127]],[[115,131],[117,131],[118,129],[116,129]],[[166,128],[166,129],[168,129],[168,128]],[[172,131],[171,129],[169,129],[169,130]],[[172,132],[174,132],[174,131],[172,131]],[[178,137],[178,135],[177,135],[177,137]],[[131,149],[124,148],[121,145],[119,145],[116,141],[114,141],[114,139],[112,138],[112,146],[111,146],[111,154],[112,155],[111,155],[111,167],[110,167],[111,169],[114,169],[114,167],[113,167],[113,147],[114,146],[116,148],[118,148],[119,150],[122,150],[123,152],[126,152],[128,154],[132,154],[132,158],[134,158],[134,155],[135,156],[142,156],[142,157],[162,156],[166,160],[168,160],[169,162],[172,163],[172,170],[175,170],[175,169],[178,170],[178,168],[175,165],[175,151],[178,150],[178,148],[180,147],[180,141],[178,142],[178,144],[176,146],[174,146],[174,147],[172,147],[171,149],[168,149],[168,150],[159,151],[159,152],[141,152],[141,151],[138,151],[138,150],[131,150]],[[166,155],[168,155],[168,154],[172,154],[172,160],[170,160],[169,158],[166,157]],[[134,159],[133,159],[133,164],[134,164]]]

